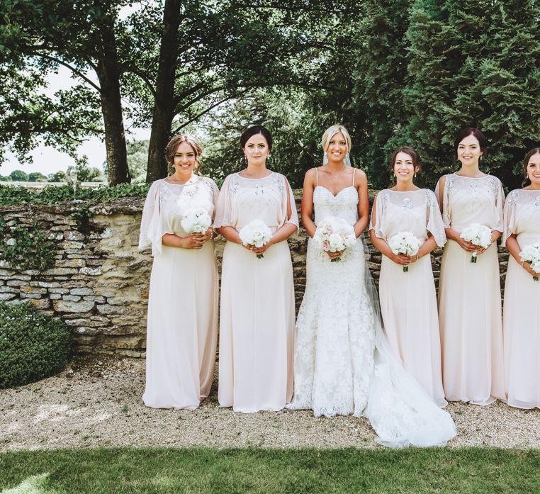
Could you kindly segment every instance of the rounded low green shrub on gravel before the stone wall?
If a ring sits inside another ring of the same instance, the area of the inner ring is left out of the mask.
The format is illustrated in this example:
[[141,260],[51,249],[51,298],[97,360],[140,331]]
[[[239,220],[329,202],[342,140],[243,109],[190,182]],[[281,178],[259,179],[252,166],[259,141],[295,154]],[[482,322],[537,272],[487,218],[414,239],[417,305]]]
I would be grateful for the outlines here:
[[39,381],[62,371],[72,335],[61,320],[30,303],[0,303],[0,388]]

